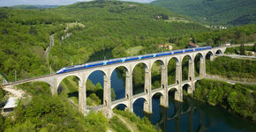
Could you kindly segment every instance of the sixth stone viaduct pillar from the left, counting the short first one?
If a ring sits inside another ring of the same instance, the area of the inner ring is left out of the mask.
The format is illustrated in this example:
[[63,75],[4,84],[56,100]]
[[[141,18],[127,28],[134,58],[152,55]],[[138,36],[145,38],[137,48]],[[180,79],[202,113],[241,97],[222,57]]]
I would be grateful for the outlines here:
[[160,99],[160,105],[164,107],[169,106],[169,99],[168,99],[168,66],[162,65],[161,69],[161,87],[163,89],[163,95]]

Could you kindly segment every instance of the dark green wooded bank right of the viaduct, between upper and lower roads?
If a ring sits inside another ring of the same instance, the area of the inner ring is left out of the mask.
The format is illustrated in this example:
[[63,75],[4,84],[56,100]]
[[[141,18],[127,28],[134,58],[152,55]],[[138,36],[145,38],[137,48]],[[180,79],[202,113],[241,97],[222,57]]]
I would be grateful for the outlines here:
[[207,60],[207,74],[223,77],[256,78],[256,61],[216,57],[214,62]]

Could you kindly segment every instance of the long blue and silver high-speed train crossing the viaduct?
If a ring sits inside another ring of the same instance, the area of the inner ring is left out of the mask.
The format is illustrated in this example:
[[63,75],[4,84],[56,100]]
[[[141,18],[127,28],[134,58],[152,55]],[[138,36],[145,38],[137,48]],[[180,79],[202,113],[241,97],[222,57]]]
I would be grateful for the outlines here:
[[163,56],[163,55],[176,55],[176,54],[200,51],[200,50],[211,49],[211,48],[212,47],[186,48],[186,49],[181,49],[181,50],[173,50],[173,51],[147,54],[147,55],[135,55],[135,56],[129,56],[129,57],[117,58],[117,59],[110,59],[110,60],[104,60],[104,61],[98,61],[98,62],[87,62],[85,64],[64,67],[60,70],[57,70],[56,74],[69,72],[69,71],[74,71],[74,70],[83,70],[83,69],[93,68],[93,67],[96,67],[96,66],[109,65],[109,64],[112,64],[112,63],[130,62],[130,61],[134,61],[134,60],[143,60],[143,59],[154,58],[154,57]]

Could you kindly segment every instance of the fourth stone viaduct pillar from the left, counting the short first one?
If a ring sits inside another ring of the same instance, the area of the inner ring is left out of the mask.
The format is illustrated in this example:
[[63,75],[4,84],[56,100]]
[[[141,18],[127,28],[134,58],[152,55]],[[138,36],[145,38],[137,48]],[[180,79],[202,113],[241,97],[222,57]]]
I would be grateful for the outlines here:
[[125,77],[125,99],[128,99],[128,109],[130,112],[133,112],[132,104],[132,70],[126,71]]

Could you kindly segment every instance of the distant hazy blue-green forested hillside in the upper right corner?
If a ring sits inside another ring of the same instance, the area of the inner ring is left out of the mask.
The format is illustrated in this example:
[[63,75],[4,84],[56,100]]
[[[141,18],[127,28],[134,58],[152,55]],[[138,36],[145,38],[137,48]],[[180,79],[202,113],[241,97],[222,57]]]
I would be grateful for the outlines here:
[[256,0],[156,0],[159,5],[210,25],[246,25],[256,22]]

